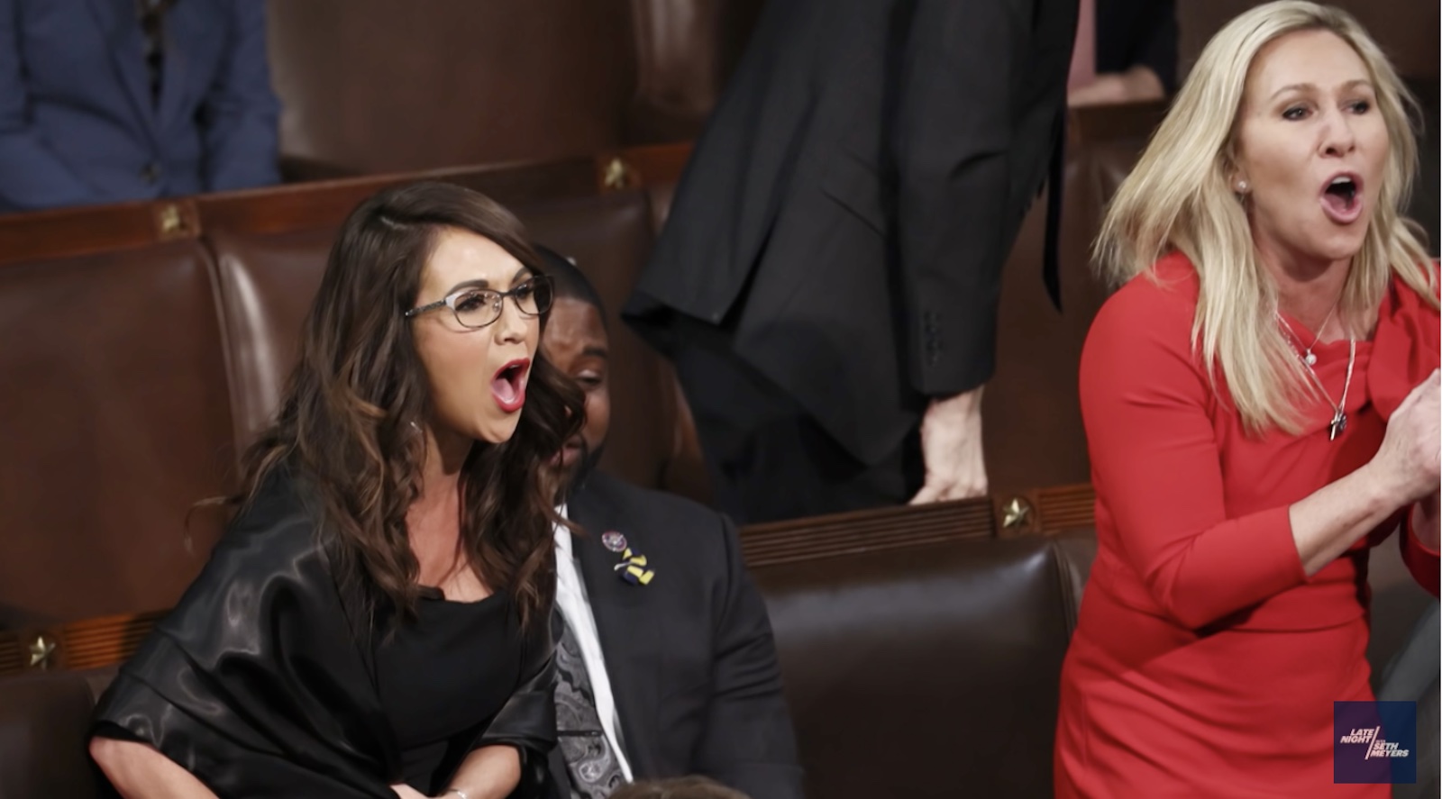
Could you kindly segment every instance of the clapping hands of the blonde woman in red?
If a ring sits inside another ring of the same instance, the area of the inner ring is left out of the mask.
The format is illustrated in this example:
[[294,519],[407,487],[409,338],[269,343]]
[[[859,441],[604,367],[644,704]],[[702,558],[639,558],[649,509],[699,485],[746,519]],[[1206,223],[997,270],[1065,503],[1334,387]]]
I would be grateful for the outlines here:
[[1442,374],[1433,369],[1422,384],[1407,394],[1387,421],[1387,434],[1373,456],[1384,486],[1394,492],[1396,506],[1425,499],[1438,490],[1439,459],[1442,459]]

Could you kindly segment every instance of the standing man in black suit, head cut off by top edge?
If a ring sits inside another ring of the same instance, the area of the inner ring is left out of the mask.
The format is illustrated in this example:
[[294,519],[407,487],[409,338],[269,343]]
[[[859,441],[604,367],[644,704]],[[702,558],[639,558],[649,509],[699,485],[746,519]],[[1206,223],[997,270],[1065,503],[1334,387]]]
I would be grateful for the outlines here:
[[1060,163],[1076,13],[766,4],[624,310],[737,521],[985,492],[1001,268]]

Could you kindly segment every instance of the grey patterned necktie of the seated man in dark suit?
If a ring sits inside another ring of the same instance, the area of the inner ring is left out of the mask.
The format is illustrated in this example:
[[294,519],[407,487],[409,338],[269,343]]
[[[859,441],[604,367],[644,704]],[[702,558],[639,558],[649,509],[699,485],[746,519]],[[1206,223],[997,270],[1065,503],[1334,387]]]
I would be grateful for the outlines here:
[[559,610],[554,623],[562,630],[555,648],[555,728],[571,776],[571,799],[606,799],[626,777],[596,712],[591,678],[575,633]]

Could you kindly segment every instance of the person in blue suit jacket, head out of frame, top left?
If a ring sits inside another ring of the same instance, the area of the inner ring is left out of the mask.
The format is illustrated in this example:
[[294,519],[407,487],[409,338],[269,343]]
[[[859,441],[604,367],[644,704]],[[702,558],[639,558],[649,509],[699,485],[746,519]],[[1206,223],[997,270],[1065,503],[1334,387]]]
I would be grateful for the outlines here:
[[277,183],[261,0],[0,0],[0,213]]

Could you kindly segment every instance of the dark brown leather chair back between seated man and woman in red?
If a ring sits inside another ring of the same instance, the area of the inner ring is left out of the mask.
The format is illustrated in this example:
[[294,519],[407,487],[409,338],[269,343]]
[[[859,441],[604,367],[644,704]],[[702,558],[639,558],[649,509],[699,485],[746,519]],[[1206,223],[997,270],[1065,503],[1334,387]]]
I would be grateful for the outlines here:
[[808,796],[1051,796],[1071,584],[1045,538],[754,570]]

